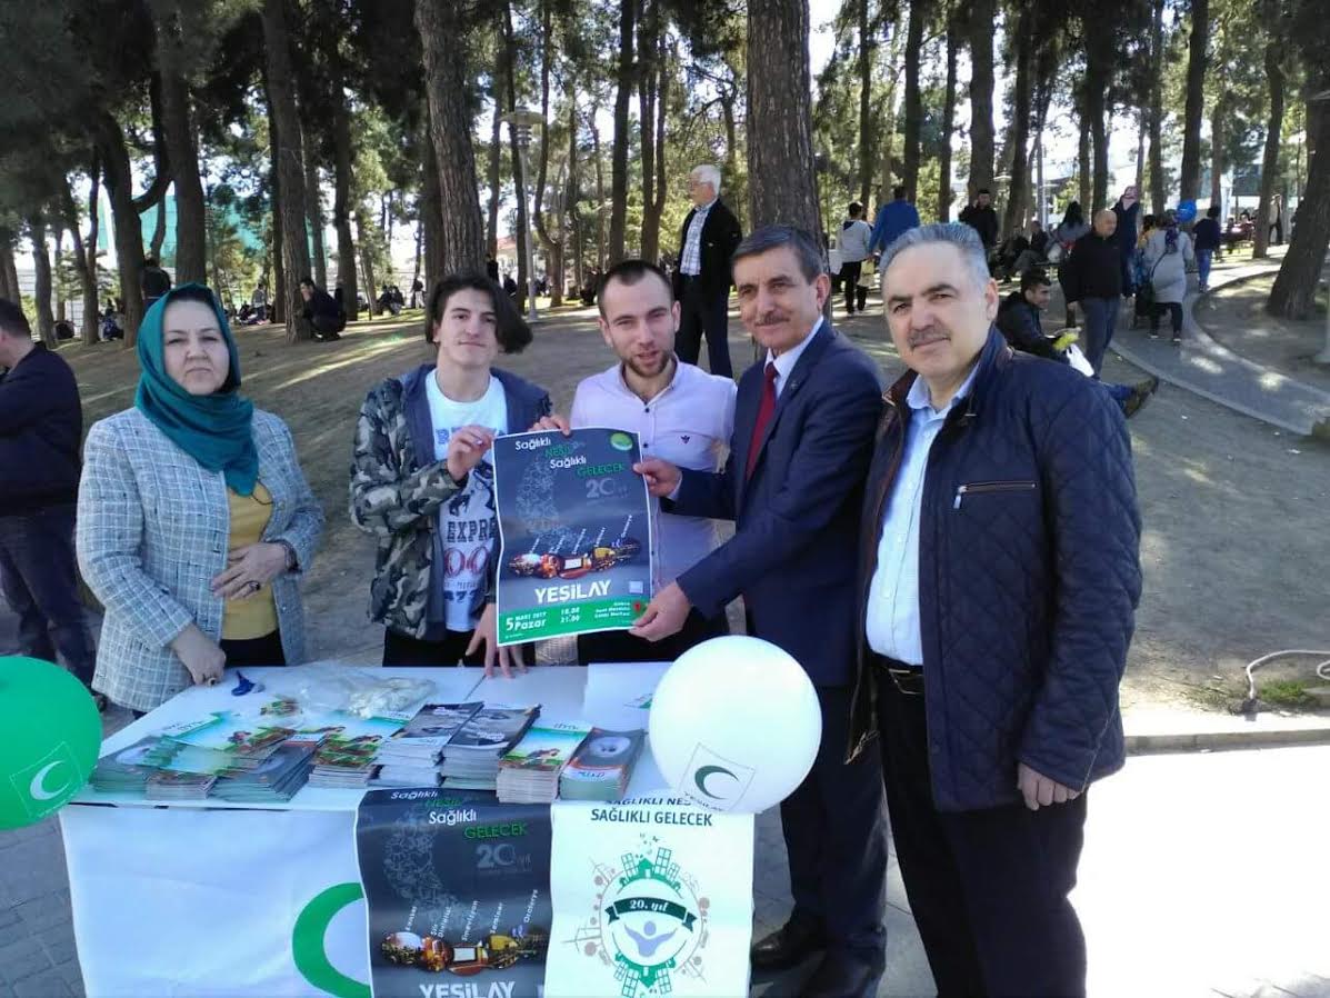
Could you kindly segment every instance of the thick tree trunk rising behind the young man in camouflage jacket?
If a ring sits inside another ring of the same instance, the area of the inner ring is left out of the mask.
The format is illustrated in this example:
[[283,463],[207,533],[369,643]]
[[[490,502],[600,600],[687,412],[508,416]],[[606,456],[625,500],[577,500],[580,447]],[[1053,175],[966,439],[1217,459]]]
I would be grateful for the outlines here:
[[476,198],[476,160],[469,141],[466,39],[462,11],[452,0],[416,0],[415,24],[424,55],[430,96],[430,136],[439,177],[440,253],[443,273],[484,273],[485,237]]

